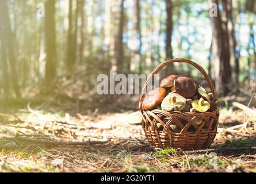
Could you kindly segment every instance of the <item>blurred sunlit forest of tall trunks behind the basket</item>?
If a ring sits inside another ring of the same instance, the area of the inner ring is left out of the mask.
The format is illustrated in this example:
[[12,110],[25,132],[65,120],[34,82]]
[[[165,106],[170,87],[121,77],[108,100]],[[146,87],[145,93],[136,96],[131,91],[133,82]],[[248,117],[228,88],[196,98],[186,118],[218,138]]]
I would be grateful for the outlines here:
[[[255,23],[255,0],[1,0],[0,97],[82,98],[98,74],[150,74],[175,57],[201,64],[228,95],[256,79]],[[198,76],[187,64],[167,70]]]

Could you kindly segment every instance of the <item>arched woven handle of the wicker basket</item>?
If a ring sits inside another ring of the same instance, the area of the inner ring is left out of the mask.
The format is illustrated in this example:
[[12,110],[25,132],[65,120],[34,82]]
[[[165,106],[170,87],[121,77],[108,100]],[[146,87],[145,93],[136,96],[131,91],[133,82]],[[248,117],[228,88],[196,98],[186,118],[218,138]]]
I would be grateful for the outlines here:
[[197,68],[197,70],[199,70],[202,75],[204,75],[204,78],[207,80],[209,87],[211,88],[211,91],[213,93],[213,97],[216,98],[216,93],[215,93],[215,89],[213,86],[213,83],[211,81],[211,79],[209,78],[209,76],[207,75],[207,72],[204,70],[204,68],[202,68],[200,65],[198,65],[195,62],[192,62],[191,60],[188,59],[183,59],[183,58],[176,58],[176,59],[170,59],[170,60],[166,60],[165,62],[159,64],[154,71],[152,71],[152,73],[148,76],[146,83],[144,84],[143,90],[142,90],[142,94],[140,95],[140,102],[139,102],[139,109],[142,109],[142,101],[143,101],[143,97],[146,93],[146,89],[147,89],[147,85],[148,82],[150,81],[150,79],[152,78],[152,76],[154,76],[155,74],[157,74],[160,70],[162,70],[163,67],[165,67],[168,64],[171,63],[188,63],[191,64],[193,67]]

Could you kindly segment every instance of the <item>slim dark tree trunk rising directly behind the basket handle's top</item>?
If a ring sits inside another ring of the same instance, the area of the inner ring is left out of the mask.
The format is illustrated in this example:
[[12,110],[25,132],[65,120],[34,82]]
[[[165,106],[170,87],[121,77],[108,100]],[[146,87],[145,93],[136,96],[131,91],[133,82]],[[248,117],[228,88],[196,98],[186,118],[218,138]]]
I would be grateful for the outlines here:
[[[166,59],[173,59],[173,47],[171,46],[173,35],[173,5],[172,0],[165,0],[166,3]],[[173,64],[167,66],[166,72],[171,75],[174,71]]]

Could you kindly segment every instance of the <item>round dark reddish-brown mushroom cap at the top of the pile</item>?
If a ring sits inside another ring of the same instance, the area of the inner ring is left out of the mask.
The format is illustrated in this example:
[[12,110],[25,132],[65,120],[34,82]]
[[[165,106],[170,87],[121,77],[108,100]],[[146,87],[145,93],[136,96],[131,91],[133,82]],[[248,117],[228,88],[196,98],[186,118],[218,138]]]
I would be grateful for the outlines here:
[[196,83],[186,76],[180,76],[178,79],[175,79],[174,87],[176,93],[185,98],[193,97],[194,93],[196,93]]

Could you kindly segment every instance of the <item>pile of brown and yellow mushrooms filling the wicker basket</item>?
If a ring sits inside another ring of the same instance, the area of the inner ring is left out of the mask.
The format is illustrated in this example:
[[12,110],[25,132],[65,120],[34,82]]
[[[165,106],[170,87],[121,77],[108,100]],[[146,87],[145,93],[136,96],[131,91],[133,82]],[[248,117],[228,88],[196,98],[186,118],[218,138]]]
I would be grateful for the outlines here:
[[[170,75],[163,79],[159,87],[151,90],[143,99],[142,109],[162,109],[176,112],[213,112],[218,109],[219,101],[203,87],[186,76]],[[164,121],[169,121],[167,118]],[[194,119],[197,125],[202,123],[201,118]],[[156,128],[162,127],[160,123]],[[173,124],[173,132],[180,129]]]

